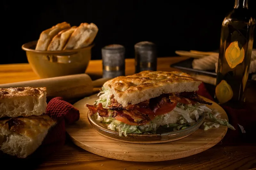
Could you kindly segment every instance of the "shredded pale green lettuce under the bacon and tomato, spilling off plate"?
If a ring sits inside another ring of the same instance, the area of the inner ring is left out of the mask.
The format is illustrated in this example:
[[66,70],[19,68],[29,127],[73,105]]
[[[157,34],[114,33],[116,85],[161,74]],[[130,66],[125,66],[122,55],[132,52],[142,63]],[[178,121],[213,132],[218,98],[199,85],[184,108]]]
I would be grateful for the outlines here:
[[[109,89],[102,87],[102,90],[100,90],[100,93],[98,94],[99,99],[96,100],[94,104],[102,103],[104,108],[108,108],[111,95],[112,94]],[[98,113],[94,116],[96,121],[108,125],[108,129],[119,132],[119,136],[122,136],[122,134],[127,136],[128,133],[154,134],[161,128],[169,129],[171,131],[184,130],[195,124],[204,112],[207,114],[207,122],[204,122],[203,124],[205,131],[212,127],[218,128],[220,125],[226,125],[228,128],[235,130],[235,128],[229,124],[226,119],[221,119],[221,113],[218,112],[218,110],[212,110],[206,105],[200,103],[178,103],[171,112],[164,115],[158,115],[151,122],[140,126],[128,125],[120,122],[115,118],[112,118],[112,114],[110,114],[109,117],[100,117]]]

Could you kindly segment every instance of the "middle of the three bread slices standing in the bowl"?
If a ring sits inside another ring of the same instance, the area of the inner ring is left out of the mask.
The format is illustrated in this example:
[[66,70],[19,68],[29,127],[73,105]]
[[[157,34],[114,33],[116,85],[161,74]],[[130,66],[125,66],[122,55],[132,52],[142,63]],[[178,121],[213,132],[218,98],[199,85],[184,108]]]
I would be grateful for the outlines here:
[[60,51],[66,45],[68,39],[71,34],[76,30],[77,26],[72,26],[69,29],[65,29],[60,31],[57,35],[55,35],[48,46],[48,51]]

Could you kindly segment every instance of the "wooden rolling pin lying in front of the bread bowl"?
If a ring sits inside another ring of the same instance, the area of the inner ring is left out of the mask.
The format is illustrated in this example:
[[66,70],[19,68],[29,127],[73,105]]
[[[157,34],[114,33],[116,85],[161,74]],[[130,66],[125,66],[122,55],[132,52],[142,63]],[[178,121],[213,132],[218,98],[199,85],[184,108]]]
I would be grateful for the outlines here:
[[108,78],[92,81],[88,74],[74,74],[60,77],[44,78],[39,80],[20,81],[0,84],[0,88],[10,87],[46,87],[47,99],[63,97],[70,100],[93,94],[93,88],[100,88]]

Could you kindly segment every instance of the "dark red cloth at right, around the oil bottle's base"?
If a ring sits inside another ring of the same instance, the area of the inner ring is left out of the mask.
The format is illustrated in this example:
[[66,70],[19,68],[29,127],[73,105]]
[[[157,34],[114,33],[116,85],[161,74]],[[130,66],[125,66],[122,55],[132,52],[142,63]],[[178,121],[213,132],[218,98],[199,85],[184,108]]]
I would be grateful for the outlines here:
[[[204,83],[201,83],[199,86],[199,90],[197,91],[198,95],[204,96],[212,101],[214,99],[208,93],[205,88]],[[235,127],[235,131],[228,129],[228,132],[225,138],[222,140],[222,143],[228,145],[236,145],[237,143],[254,143],[255,139],[255,130],[256,130],[256,113],[248,108],[242,109],[233,109],[225,105],[220,105],[228,115],[228,122]],[[242,133],[238,124],[244,127],[246,133]]]

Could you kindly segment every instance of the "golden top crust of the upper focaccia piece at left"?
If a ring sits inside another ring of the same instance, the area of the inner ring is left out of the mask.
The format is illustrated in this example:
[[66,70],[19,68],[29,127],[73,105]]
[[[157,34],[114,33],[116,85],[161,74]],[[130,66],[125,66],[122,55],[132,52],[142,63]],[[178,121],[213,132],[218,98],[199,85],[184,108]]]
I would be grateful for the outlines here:
[[46,88],[33,88],[33,87],[17,87],[17,88],[0,88],[0,100],[1,99],[10,99],[13,97],[21,96],[43,96],[46,95]]

